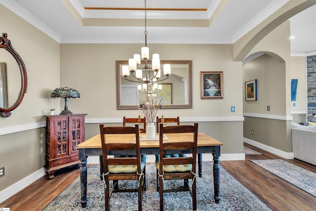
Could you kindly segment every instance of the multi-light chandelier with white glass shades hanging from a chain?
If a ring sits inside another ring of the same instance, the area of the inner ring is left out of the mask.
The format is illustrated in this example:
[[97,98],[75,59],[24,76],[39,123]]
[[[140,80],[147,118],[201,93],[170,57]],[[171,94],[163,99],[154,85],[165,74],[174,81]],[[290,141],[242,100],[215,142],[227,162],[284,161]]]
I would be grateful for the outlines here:
[[[122,66],[122,75],[124,79],[130,82],[140,83],[138,90],[142,93],[158,93],[161,90],[161,85],[157,82],[164,81],[169,78],[171,74],[170,64],[163,65],[163,74],[166,76],[160,79],[160,59],[159,54],[154,53],[151,61],[151,68],[149,67],[149,48],[147,47],[147,10],[145,0],[145,47],[141,48],[141,54],[134,54],[134,57],[128,60],[128,65]],[[141,62],[143,60],[143,63]],[[151,70],[150,70],[151,69]],[[143,77],[143,70],[145,76]],[[127,78],[129,75],[132,79]]]

